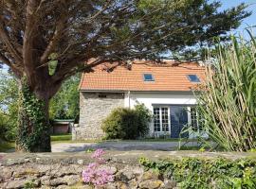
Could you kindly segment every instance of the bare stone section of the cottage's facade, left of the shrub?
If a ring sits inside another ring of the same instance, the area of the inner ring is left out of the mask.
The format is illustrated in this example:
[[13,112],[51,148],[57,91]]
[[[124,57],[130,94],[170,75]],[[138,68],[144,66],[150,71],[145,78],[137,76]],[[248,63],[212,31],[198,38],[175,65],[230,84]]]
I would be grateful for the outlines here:
[[72,130],[73,140],[101,139],[102,120],[113,109],[124,106],[122,93],[89,93],[80,94],[79,126]]

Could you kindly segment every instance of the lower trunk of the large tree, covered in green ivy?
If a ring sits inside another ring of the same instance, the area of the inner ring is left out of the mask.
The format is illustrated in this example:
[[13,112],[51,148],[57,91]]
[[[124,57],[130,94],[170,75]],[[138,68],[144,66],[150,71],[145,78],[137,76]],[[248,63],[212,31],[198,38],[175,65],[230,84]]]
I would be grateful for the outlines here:
[[[50,152],[48,98],[38,96],[20,82],[18,136],[16,150],[22,152]],[[42,93],[41,93],[42,94]]]

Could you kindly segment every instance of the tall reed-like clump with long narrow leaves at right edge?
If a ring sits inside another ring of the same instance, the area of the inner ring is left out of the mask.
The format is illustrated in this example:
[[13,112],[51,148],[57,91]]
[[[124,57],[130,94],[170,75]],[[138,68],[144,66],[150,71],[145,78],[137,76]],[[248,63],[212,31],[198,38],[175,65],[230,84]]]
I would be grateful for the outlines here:
[[256,147],[256,41],[232,38],[216,47],[198,110],[210,138],[231,151]]

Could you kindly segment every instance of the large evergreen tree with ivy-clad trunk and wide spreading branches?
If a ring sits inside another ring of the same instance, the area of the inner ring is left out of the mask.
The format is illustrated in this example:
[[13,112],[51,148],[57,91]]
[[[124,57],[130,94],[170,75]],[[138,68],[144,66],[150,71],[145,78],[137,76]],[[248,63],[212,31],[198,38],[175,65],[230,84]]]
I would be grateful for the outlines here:
[[[17,149],[50,151],[48,102],[65,78],[105,60],[157,59],[211,45],[245,5],[208,0],[0,0],[0,60],[19,79]],[[92,60],[93,59],[93,60]]]

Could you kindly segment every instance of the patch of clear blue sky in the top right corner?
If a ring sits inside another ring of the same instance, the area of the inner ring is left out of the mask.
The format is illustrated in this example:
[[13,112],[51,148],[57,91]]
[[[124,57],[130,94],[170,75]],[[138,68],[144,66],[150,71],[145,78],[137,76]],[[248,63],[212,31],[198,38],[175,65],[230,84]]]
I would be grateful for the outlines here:
[[[237,29],[238,32],[242,32],[242,34],[246,35],[245,28],[247,26],[256,26],[256,0],[220,0],[223,4],[222,9],[229,9],[235,7],[241,3],[246,3],[249,5],[247,10],[252,11],[252,15],[247,17],[242,25]],[[255,27],[256,28],[256,27]],[[256,29],[254,28],[254,34]]]

